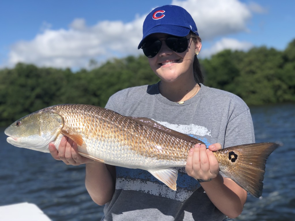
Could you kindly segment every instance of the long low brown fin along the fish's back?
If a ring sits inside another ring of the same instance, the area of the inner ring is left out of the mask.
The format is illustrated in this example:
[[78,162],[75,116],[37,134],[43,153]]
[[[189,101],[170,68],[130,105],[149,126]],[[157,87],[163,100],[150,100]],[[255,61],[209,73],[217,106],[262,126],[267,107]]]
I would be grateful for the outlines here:
[[176,136],[176,137],[178,137],[182,140],[188,141],[190,143],[205,144],[204,142],[202,142],[192,136],[189,136],[184,133],[180,133],[178,131],[171,130],[170,128],[167,128],[167,127],[163,126],[162,124],[158,123],[157,121],[151,120],[149,118],[145,118],[145,117],[127,117],[127,118],[129,118],[132,121],[137,121],[138,123],[140,123],[143,126],[148,126],[148,127],[153,128],[157,131],[167,133],[171,136]]

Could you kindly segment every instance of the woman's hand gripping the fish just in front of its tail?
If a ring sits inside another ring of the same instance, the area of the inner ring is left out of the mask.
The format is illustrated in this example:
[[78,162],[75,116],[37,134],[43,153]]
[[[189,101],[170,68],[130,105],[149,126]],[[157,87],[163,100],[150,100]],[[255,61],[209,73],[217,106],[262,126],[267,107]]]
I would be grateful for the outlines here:
[[208,180],[217,177],[219,164],[212,151],[221,149],[219,143],[212,144],[207,149],[204,144],[196,144],[189,150],[186,160],[186,172],[195,179]]

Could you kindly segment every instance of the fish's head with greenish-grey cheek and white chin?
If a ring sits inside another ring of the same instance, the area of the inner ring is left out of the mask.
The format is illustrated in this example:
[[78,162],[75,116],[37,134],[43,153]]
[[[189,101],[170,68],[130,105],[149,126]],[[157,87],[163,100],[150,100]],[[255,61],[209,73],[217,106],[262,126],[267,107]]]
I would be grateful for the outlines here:
[[58,137],[63,122],[58,113],[39,110],[6,128],[4,133],[9,136],[6,141],[17,147],[49,152],[48,145]]

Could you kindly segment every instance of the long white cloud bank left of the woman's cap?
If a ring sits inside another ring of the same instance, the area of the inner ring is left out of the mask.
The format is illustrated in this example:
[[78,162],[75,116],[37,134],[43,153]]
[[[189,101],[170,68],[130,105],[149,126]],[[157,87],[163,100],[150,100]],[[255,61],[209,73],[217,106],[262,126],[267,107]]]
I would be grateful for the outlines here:
[[88,27],[83,19],[75,19],[70,28],[46,29],[31,41],[15,43],[9,53],[9,63],[34,63],[53,67],[87,67],[90,59],[106,60],[139,54],[137,50],[144,18],[130,24],[99,22]]

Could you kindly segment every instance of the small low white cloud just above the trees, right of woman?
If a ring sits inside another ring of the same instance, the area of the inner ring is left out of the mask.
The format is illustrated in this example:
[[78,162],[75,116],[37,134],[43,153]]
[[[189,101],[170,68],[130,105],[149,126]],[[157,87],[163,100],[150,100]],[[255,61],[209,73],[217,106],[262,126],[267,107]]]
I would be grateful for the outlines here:
[[210,48],[202,49],[200,52],[201,57],[209,57],[225,49],[247,51],[254,45],[250,42],[240,42],[237,39],[222,38],[215,42]]

